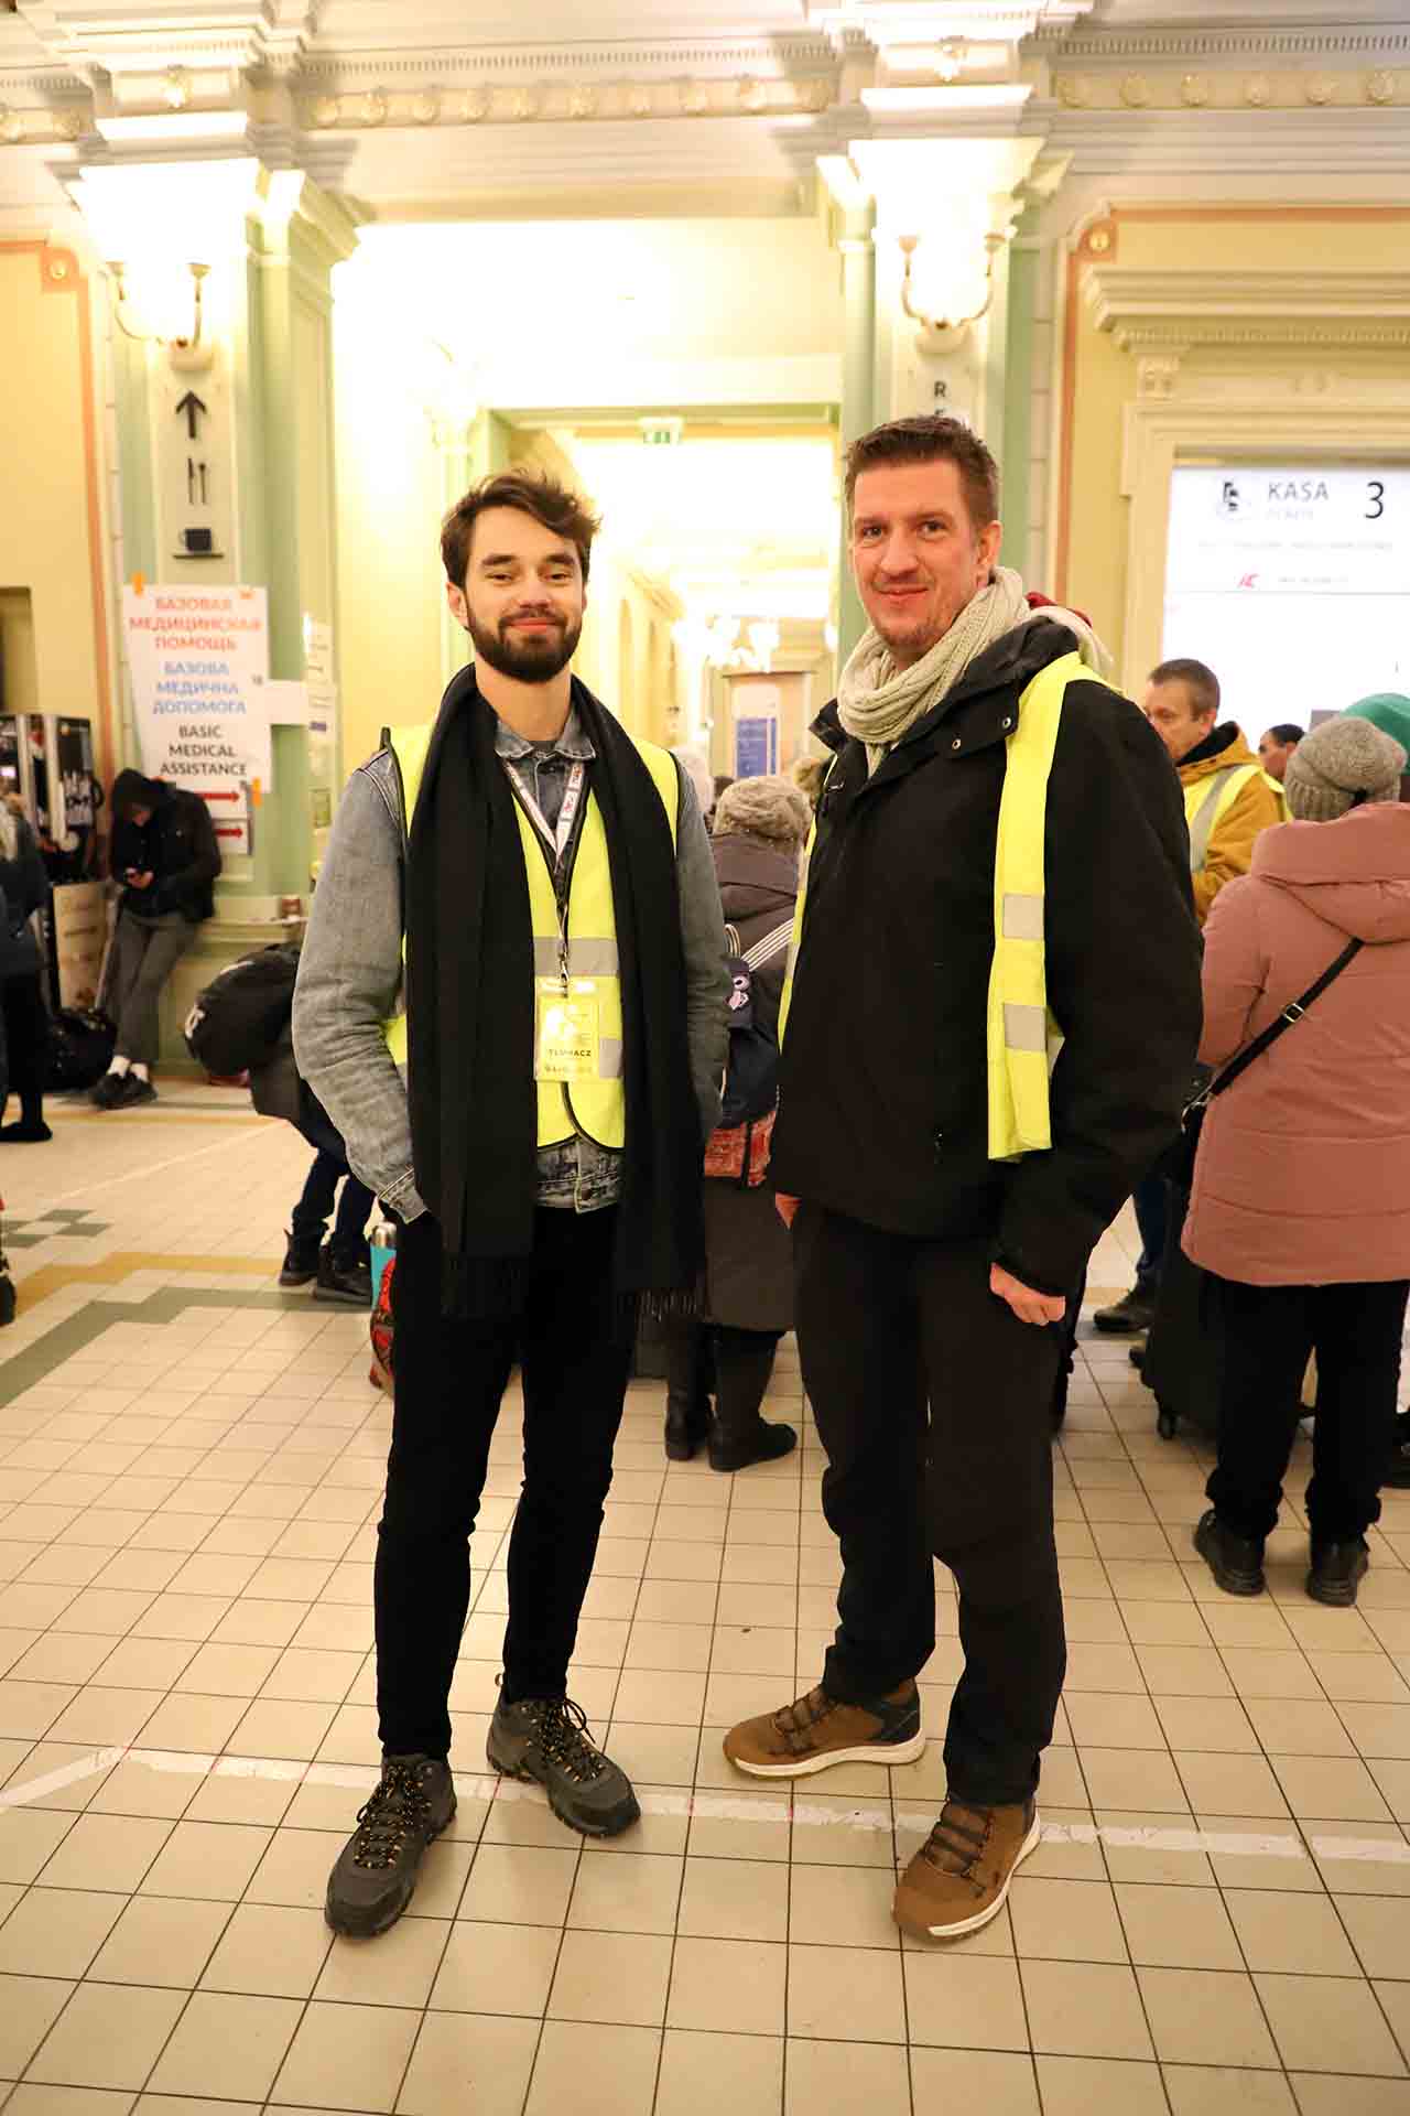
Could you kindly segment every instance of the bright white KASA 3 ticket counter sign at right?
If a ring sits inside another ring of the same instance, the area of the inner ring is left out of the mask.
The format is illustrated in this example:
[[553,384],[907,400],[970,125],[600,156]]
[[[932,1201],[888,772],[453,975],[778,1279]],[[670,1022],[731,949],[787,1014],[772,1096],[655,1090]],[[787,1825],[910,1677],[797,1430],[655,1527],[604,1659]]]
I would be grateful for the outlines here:
[[1410,692],[1410,466],[1180,466],[1161,652],[1207,662],[1251,743]]

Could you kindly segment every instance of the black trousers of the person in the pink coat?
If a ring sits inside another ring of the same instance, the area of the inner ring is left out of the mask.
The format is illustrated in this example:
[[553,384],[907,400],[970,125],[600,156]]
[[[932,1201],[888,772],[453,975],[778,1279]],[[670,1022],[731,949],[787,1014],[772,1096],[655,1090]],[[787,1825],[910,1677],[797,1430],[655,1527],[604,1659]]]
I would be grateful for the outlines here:
[[1247,1287],[1211,1276],[1209,1284],[1224,1322],[1220,1460],[1207,1485],[1216,1513],[1254,1543],[1277,1526],[1302,1373],[1317,1352],[1313,1547],[1363,1536],[1380,1519],[1410,1282]]

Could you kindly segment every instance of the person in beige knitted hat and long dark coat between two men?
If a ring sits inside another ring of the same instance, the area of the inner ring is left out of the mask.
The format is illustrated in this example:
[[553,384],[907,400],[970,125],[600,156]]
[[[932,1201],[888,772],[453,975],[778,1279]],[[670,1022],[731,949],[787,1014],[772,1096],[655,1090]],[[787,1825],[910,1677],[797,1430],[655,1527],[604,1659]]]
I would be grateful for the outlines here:
[[[774,1041],[810,827],[808,796],[786,779],[736,779],[715,810],[710,851],[740,950],[780,942],[750,980],[755,1026]],[[706,1179],[702,1320],[668,1337],[666,1454],[689,1460],[708,1441],[710,1466],[734,1471],[797,1445],[793,1426],[759,1416],[778,1339],[793,1329],[793,1240],[767,1172],[759,1183],[712,1176],[706,1157]]]

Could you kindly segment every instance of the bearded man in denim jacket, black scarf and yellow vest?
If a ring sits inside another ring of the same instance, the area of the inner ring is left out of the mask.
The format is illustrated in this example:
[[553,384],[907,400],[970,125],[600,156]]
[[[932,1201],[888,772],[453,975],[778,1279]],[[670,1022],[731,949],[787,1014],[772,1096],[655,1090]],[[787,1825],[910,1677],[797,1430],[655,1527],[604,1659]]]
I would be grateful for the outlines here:
[[383,1775],[328,1883],[347,1934],[402,1915],[454,1816],[469,1534],[516,1361],[524,1485],[488,1763],[586,1837],[638,1818],[569,1661],[638,1308],[695,1291],[729,978],[689,777],[569,669],[594,531],[575,493],[520,470],[450,510],[446,592],[476,660],[433,726],[391,730],[353,774],[300,961],[300,1071],[402,1221]]

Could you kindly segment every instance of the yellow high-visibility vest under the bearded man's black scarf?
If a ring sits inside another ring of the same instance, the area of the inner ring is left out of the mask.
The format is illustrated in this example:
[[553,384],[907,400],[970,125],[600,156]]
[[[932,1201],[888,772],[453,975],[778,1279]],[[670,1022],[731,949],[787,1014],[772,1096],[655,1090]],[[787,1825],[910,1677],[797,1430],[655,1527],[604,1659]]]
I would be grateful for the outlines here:
[[[431,747],[431,728],[391,728],[389,747],[402,772],[402,815],[406,840],[410,842],[416,796]],[[681,781],[676,762],[666,749],[653,743],[636,743],[641,762],[651,774],[651,783],[670,823],[670,840],[676,838]],[[533,973],[535,978],[558,978],[558,897],[554,876],[537,829],[528,821],[522,802],[514,802],[520,844],[524,849],[524,872],[528,876],[528,914],[533,925]],[[598,1001],[598,1077],[573,1081],[539,1081],[539,1145],[556,1147],[583,1132],[600,1147],[621,1151],[626,1145],[626,1090],[621,1083],[621,978],[617,969],[617,916],[611,893],[611,863],[607,857],[607,827],[596,796],[588,794],[583,808],[577,853],[573,857],[573,878],[569,882],[569,978],[592,978]],[[406,940],[402,940],[402,961],[406,961]],[[387,1050],[404,1066],[408,1058],[406,1011],[383,1022]],[[531,1054],[526,1052],[528,1060]]]

